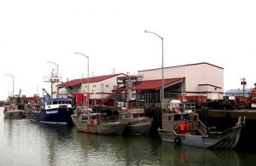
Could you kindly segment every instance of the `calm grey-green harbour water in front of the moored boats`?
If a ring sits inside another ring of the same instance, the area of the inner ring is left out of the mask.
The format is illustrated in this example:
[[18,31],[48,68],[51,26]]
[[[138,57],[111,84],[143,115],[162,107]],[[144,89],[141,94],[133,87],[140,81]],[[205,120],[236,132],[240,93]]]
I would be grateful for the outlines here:
[[18,165],[256,165],[255,152],[176,147],[145,137],[87,135],[66,126],[3,119],[0,166]]

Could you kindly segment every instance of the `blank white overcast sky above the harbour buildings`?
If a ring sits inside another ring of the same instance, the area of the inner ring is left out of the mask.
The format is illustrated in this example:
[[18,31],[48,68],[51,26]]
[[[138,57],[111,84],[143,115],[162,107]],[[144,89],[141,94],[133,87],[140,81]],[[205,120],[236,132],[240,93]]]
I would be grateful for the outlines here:
[[[256,1],[8,0],[0,1],[0,100],[49,89],[44,77],[58,64],[63,81],[137,73],[161,66],[208,62],[224,67],[224,91],[253,87]],[[209,73],[211,74],[211,73]]]

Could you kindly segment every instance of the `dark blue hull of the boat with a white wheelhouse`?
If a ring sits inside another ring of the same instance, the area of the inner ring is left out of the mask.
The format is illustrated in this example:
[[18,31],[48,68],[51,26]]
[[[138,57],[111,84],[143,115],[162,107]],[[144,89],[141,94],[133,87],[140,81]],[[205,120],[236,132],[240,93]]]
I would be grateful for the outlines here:
[[31,120],[40,123],[67,124],[72,123],[71,115],[73,108],[55,108],[41,110],[40,112],[31,112]]

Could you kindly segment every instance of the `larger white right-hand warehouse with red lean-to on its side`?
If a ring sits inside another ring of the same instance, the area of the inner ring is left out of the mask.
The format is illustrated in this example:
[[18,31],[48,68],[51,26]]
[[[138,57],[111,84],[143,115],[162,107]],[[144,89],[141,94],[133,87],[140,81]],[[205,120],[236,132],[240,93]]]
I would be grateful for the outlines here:
[[[165,99],[172,99],[178,95],[206,96],[209,100],[223,98],[223,67],[202,62],[183,66],[165,67],[163,71]],[[162,69],[157,68],[138,71],[138,75],[143,76],[143,82],[161,80]],[[159,81],[159,89],[160,85]]]

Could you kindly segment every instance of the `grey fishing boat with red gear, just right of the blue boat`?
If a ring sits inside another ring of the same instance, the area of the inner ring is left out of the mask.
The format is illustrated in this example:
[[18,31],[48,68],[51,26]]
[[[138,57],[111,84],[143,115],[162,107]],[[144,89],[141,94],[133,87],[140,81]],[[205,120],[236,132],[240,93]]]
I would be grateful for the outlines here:
[[106,113],[80,112],[72,116],[76,129],[80,132],[97,135],[123,135],[127,123],[113,120]]

